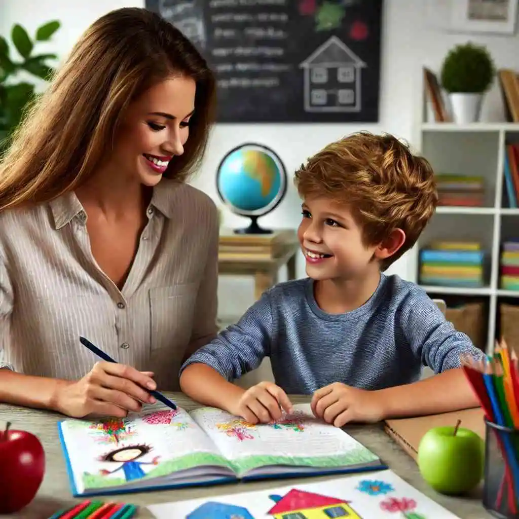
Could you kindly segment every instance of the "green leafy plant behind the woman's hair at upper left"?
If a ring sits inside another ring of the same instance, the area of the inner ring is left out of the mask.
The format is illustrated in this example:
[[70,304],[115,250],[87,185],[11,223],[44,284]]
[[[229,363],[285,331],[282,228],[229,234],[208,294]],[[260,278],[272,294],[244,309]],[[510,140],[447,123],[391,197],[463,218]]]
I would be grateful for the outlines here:
[[[28,32],[16,23],[12,26],[10,44],[0,36],[0,152],[18,126],[24,108],[37,95],[35,85],[17,80],[18,74],[24,71],[40,79],[50,77],[54,70],[48,60],[56,59],[56,54],[38,54],[35,50],[39,42],[50,40],[60,25],[57,20],[47,22],[38,27],[34,39],[31,39]],[[18,57],[13,55],[15,49]]]

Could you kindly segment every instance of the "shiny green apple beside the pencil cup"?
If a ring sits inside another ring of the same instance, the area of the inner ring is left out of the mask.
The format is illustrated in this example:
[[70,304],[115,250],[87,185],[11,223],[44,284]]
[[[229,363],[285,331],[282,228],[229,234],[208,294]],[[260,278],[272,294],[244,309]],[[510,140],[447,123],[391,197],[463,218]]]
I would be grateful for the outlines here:
[[418,445],[418,468],[424,480],[441,494],[472,490],[483,477],[485,443],[470,429],[434,427]]

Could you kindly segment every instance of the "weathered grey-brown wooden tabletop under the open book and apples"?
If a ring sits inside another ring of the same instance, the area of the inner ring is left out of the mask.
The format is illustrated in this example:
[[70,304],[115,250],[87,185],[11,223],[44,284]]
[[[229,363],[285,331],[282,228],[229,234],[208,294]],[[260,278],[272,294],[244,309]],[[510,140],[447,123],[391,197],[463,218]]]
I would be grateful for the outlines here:
[[[181,393],[167,393],[179,406],[184,409],[197,407]],[[291,397],[294,403],[309,402],[308,397]],[[72,497],[69,480],[66,475],[65,461],[61,451],[57,433],[57,421],[63,419],[62,415],[47,411],[36,411],[10,405],[0,404],[0,423],[12,422],[13,429],[24,429],[33,432],[42,442],[46,455],[46,473],[34,500],[17,514],[4,515],[2,517],[23,517],[24,519],[44,519],[52,513],[72,506],[80,501]],[[384,433],[379,425],[351,426],[347,428],[349,434],[359,440],[380,458],[400,477],[420,490],[425,495],[440,503],[461,519],[488,519],[491,516],[483,509],[480,490],[467,498],[446,497],[436,494],[421,478],[414,460],[400,449],[389,436]],[[323,479],[322,476],[319,479]],[[348,477],[348,476],[342,476]],[[330,478],[329,478],[330,479]],[[138,504],[140,507],[137,517],[153,517],[145,507],[148,504],[195,499],[200,497],[233,494],[250,490],[275,488],[301,483],[317,481],[317,477],[305,477],[299,480],[269,480],[254,483],[237,483],[229,485],[216,485],[213,487],[192,487],[177,490],[155,490],[149,493],[121,494],[112,497],[100,496],[105,501],[121,501]],[[174,519],[174,518],[172,518]],[[368,518],[366,518],[368,519]]]

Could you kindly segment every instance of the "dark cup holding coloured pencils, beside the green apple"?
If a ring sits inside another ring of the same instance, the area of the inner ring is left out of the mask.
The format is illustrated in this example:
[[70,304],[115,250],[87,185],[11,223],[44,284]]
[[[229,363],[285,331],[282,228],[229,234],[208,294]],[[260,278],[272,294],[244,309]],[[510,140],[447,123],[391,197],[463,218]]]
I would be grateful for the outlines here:
[[519,431],[485,418],[485,473],[483,506],[500,519],[519,519],[517,485],[519,470],[517,448]]

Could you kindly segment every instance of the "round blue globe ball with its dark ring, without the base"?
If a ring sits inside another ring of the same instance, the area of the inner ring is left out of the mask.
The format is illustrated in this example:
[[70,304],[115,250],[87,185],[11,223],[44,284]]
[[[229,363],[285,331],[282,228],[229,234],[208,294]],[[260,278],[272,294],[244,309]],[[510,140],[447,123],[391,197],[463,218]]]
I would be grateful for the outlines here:
[[268,210],[284,194],[284,171],[266,151],[242,147],[223,160],[217,184],[231,209],[257,213]]

